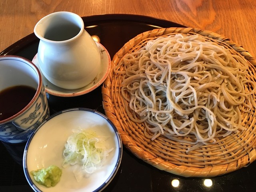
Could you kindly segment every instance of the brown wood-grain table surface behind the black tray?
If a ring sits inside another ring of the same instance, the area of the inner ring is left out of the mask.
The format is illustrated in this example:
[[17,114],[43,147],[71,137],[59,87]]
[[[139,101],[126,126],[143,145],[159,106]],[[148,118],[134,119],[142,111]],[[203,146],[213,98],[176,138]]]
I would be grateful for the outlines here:
[[256,56],[255,0],[1,0],[0,51],[33,33],[57,11],[79,16],[138,14],[170,20],[226,36]]

